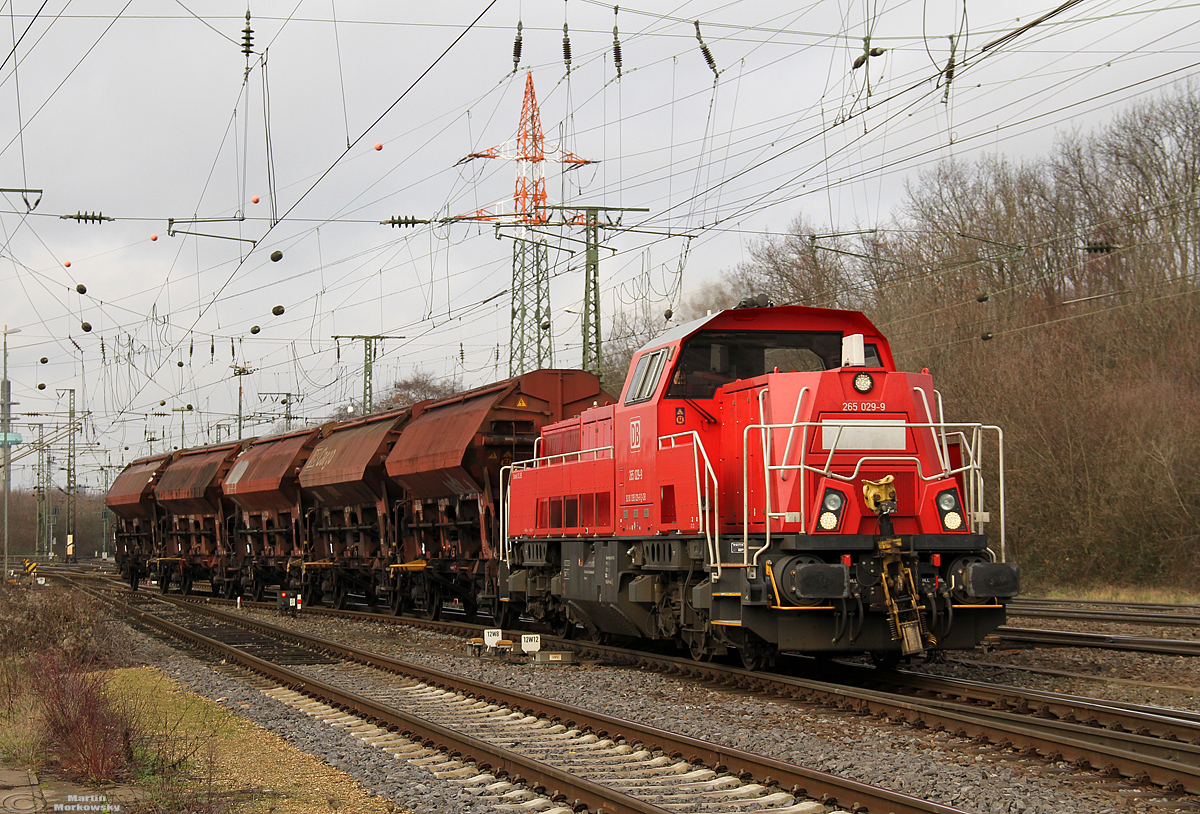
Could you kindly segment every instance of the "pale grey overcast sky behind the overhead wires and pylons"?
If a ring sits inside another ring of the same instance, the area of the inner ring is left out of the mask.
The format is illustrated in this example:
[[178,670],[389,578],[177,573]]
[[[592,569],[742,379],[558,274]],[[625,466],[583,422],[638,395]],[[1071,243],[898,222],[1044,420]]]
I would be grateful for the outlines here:
[[[194,407],[184,445],[235,433],[239,382],[247,436],[283,414],[268,394],[306,418],[358,401],[361,342],[334,335],[404,337],[382,343],[377,393],[415,369],[504,378],[514,231],[379,221],[511,211],[514,162],[457,162],[515,152],[527,72],[551,203],[650,210],[605,231],[605,328],[677,306],[797,215],[887,221],[937,161],[1044,155],[1195,73],[1198,4],[1066,5],[1021,31],[1057,2],[254,0],[247,60],[244,2],[10,0],[0,186],[40,190],[0,200],[16,429],[36,437],[29,421],[60,419],[24,413],[65,411],[74,388],[96,450],[79,477],[98,485],[100,463],[180,445],[175,408]],[[864,37],[882,53],[852,70]],[[564,149],[596,163],[563,172]],[[62,217],[80,213],[115,220]],[[551,232],[571,367],[583,235]]]

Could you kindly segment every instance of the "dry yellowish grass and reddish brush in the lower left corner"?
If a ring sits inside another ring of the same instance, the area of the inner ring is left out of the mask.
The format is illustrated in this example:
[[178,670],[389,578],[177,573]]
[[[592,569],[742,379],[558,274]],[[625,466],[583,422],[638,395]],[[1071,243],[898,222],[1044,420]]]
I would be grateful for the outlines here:
[[124,782],[130,814],[394,809],[158,670],[116,666],[122,630],[76,592],[0,585],[0,762]]

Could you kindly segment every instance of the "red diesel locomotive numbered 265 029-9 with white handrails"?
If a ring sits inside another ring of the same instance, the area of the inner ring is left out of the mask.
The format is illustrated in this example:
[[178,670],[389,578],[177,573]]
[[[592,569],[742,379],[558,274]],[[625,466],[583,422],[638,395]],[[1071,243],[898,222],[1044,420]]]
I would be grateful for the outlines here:
[[736,648],[752,669],[970,648],[1003,623],[1019,573],[998,427],[946,423],[928,371],[898,372],[862,313],[764,305],[653,340],[617,403],[506,467],[505,620]]

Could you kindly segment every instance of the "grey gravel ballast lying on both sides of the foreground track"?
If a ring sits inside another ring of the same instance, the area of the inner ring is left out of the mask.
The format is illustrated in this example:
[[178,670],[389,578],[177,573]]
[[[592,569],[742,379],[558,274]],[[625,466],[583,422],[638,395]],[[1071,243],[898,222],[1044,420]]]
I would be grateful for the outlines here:
[[[892,788],[968,812],[1148,814],[1195,810],[1200,803],[1195,797],[1147,795],[1144,790],[1081,774],[1067,764],[1051,765],[1039,759],[1025,759],[1013,752],[973,744],[948,734],[913,730],[791,701],[762,699],[745,692],[697,684],[653,672],[604,665],[506,664],[473,658],[466,653],[461,639],[415,628],[323,616],[281,620],[276,614],[248,609],[242,612],[448,672],[770,754],[810,768]],[[995,660],[1003,656],[991,654],[984,658]],[[1087,653],[1087,658],[1097,664],[1102,664],[1108,656],[1106,652]],[[1146,658],[1132,653],[1114,656],[1117,657],[1115,662],[1103,670],[1122,671],[1134,664],[1129,659]],[[1061,659],[1058,666],[1062,669]],[[302,669],[314,676],[329,676],[338,670],[336,665]],[[996,672],[1000,668],[949,664],[930,665],[929,669],[959,671],[953,675],[967,675],[972,671],[972,675],[983,675],[982,670]],[[280,732],[290,743],[343,768],[366,788],[386,795],[398,804],[422,813],[485,810],[480,807],[472,808],[473,803],[479,806],[478,801],[461,794],[457,788],[433,780],[424,770],[409,767],[350,736],[334,732],[245,686],[239,689],[240,682],[211,668],[192,659],[172,657],[167,671],[198,693],[210,698],[228,696],[226,706],[234,712],[246,714]],[[1145,674],[1154,675],[1154,670],[1146,669]],[[1022,678],[1044,681],[1033,674],[1014,670],[997,675],[1004,677],[1004,683],[1015,684]],[[1190,682],[1190,678],[1183,681],[1178,676],[1171,676],[1165,668],[1158,675],[1172,680],[1172,683]],[[1051,683],[1052,689],[1062,689],[1063,682]],[[1090,684],[1088,688],[1079,694],[1096,695],[1099,682],[1086,683]],[[1105,683],[1103,687],[1111,686]],[[1117,692],[1133,695],[1129,700],[1160,702],[1147,695],[1147,688],[1117,687]],[[242,710],[242,702],[250,706]]]

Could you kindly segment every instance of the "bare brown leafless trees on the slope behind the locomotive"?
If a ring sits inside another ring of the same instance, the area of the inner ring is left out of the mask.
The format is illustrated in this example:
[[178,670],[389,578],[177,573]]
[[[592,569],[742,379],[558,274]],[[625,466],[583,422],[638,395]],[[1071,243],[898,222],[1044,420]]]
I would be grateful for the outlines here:
[[[800,214],[694,292],[864,311],[947,419],[1006,433],[1008,541],[1033,587],[1200,570],[1200,94],[1144,101],[1046,152],[943,161],[878,223]],[[605,381],[661,315],[613,322]]]

